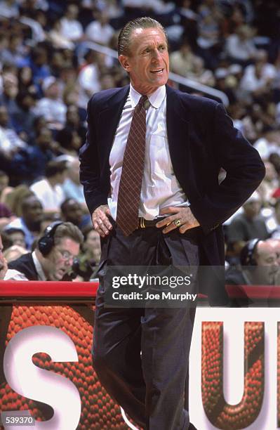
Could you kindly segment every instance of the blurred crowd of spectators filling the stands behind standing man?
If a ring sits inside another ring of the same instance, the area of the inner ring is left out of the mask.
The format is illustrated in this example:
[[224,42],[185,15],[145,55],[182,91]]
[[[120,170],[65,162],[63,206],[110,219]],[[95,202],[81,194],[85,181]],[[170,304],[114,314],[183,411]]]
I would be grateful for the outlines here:
[[[144,15],[166,27],[171,71],[223,91],[234,126],[265,162],[259,190],[225,223],[228,263],[240,263],[248,240],[280,240],[278,1],[0,0],[4,250],[15,233],[21,231],[24,240],[12,245],[22,252],[47,223],[74,219],[86,237],[81,256],[86,278],[88,264],[98,262],[79,185],[78,151],[86,137],[88,98],[124,86],[128,77],[116,58],[91,44],[116,50],[120,28]],[[180,89],[189,91],[182,84]]]

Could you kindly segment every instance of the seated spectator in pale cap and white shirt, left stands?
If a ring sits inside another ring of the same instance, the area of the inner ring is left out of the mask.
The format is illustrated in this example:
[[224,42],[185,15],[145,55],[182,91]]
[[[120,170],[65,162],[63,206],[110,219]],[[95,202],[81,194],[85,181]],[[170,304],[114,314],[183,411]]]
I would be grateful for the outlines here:
[[53,76],[46,77],[42,84],[44,97],[41,98],[34,113],[46,119],[51,129],[62,129],[66,119],[66,106],[60,98],[60,89],[57,79]]

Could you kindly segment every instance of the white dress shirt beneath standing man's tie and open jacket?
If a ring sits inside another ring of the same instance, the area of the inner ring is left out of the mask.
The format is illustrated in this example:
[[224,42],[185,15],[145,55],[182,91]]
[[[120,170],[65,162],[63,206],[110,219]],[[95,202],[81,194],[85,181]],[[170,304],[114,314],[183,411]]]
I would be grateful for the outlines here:
[[[114,220],[124,150],[133,111],[140,97],[141,94],[131,86],[109,156],[111,196],[108,198],[108,205]],[[146,114],[145,167],[139,216],[151,220],[156,218],[159,210],[164,207],[189,206],[189,202],[175,177],[171,163],[166,129],[166,87],[160,86],[148,98],[150,106]]]

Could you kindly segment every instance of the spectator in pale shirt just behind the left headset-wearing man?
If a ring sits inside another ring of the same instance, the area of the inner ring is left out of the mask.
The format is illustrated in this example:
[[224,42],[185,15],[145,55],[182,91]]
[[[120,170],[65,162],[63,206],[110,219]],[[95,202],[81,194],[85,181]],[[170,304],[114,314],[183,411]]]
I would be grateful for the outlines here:
[[5,229],[19,228],[22,230],[25,233],[26,247],[30,250],[40,232],[43,207],[35,195],[29,195],[22,201],[21,210],[22,216],[9,223]]

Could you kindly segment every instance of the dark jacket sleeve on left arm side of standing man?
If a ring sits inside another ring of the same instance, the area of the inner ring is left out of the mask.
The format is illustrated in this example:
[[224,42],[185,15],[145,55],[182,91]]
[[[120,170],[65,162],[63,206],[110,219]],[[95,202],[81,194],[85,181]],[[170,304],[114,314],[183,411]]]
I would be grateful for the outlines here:
[[102,190],[100,181],[100,164],[97,145],[97,133],[95,129],[95,96],[88,102],[86,120],[88,131],[86,133],[86,143],[79,152],[80,160],[80,181],[84,185],[84,196],[90,214],[100,206],[107,204],[107,193]]

